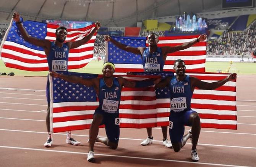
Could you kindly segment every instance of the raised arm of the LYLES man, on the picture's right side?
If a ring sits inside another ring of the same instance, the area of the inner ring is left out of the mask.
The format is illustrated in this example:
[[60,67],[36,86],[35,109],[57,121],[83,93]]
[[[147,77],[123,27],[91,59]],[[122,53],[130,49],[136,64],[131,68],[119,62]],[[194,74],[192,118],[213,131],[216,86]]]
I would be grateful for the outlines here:
[[100,23],[99,22],[96,22],[95,23],[95,28],[86,36],[84,37],[83,39],[81,40],[78,40],[78,41],[74,41],[74,42],[67,42],[66,44],[68,45],[68,47],[70,49],[73,49],[73,48],[78,48],[79,46],[81,45],[84,45],[85,43],[87,43],[91,38],[92,36],[94,35],[94,33],[99,30],[100,28]]

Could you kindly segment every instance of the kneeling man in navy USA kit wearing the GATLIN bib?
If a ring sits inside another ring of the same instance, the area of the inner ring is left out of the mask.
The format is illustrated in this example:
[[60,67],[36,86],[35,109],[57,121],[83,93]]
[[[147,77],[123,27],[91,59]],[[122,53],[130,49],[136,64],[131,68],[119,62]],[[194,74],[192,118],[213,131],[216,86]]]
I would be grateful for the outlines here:
[[[227,78],[207,83],[193,76],[185,74],[185,62],[178,59],[174,63],[173,69],[176,76],[166,77],[164,80],[156,84],[156,88],[169,86],[170,89],[170,139],[175,152],[186,144],[189,138],[192,138],[191,159],[198,161],[199,156],[196,150],[199,134],[201,131],[200,118],[196,111],[191,110],[191,98],[195,87],[198,89],[212,90],[216,89],[228,81],[234,80],[237,77],[236,73],[230,74]],[[192,130],[184,135],[185,126],[192,126]],[[184,135],[184,136],[183,136]]]

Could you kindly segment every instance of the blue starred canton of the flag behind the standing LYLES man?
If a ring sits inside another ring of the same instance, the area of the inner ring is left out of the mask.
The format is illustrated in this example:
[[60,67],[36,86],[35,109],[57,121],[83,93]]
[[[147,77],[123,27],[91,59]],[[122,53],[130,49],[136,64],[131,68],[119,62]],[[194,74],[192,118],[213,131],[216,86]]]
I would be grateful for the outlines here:
[[[35,37],[39,40],[44,40],[47,35],[47,24],[36,21],[25,21],[23,27],[26,29],[31,37]],[[6,41],[12,41],[19,45],[24,45],[31,49],[44,51],[44,48],[32,45],[31,43],[24,40],[21,33],[18,30],[16,22],[13,22],[11,29],[7,35]]]

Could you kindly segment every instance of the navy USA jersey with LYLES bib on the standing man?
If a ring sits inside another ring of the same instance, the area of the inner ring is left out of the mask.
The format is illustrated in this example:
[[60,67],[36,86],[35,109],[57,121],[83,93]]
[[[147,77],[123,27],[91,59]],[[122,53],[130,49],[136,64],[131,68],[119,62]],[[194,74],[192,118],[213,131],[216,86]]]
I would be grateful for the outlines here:
[[68,45],[63,43],[59,48],[54,42],[51,42],[49,56],[47,62],[50,71],[68,71]]

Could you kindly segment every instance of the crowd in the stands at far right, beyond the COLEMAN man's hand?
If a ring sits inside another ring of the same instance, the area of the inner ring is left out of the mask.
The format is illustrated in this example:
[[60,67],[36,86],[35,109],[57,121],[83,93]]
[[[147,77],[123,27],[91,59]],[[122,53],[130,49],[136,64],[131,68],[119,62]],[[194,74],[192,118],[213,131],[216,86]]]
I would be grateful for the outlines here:
[[250,55],[256,50],[256,22],[243,32],[225,30],[218,40],[209,40],[207,54]]

